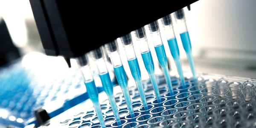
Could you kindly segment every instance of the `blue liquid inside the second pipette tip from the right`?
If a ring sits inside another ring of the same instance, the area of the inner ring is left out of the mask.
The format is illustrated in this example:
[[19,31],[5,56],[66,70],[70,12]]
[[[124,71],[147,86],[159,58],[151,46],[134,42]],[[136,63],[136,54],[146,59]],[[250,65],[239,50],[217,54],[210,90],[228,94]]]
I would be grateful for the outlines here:
[[172,54],[172,58],[175,61],[176,67],[177,67],[177,71],[179,73],[180,76],[180,80],[181,80],[181,84],[183,86],[183,88],[186,87],[186,82],[183,76],[183,71],[182,71],[182,67],[181,67],[181,62],[180,62],[180,51],[179,51],[179,47],[177,44],[177,40],[176,38],[173,38],[171,40],[168,40],[168,45]]

